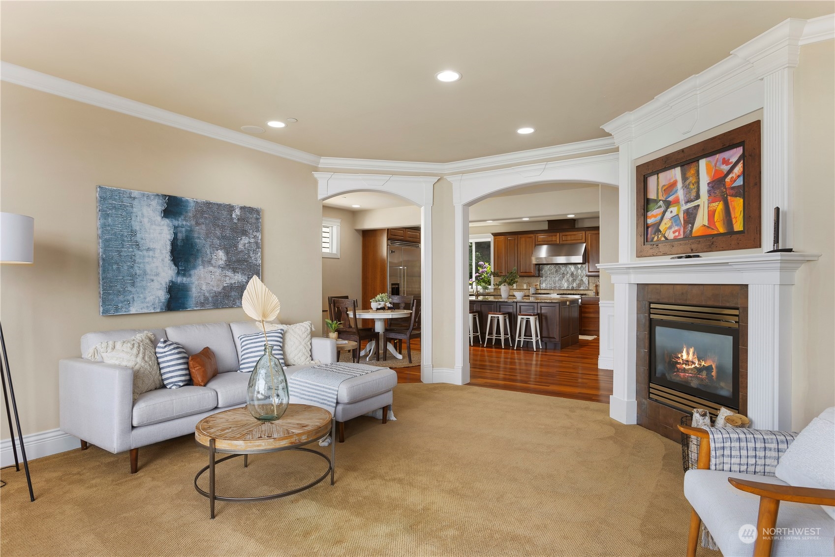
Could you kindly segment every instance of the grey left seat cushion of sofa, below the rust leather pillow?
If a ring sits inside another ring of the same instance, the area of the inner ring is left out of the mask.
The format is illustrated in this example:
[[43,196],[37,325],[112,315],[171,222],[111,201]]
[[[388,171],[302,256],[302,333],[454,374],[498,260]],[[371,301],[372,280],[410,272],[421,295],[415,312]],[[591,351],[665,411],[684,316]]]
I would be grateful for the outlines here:
[[187,385],[179,389],[156,389],[139,395],[134,402],[134,427],[168,422],[200,414],[217,406],[217,393],[208,387]]

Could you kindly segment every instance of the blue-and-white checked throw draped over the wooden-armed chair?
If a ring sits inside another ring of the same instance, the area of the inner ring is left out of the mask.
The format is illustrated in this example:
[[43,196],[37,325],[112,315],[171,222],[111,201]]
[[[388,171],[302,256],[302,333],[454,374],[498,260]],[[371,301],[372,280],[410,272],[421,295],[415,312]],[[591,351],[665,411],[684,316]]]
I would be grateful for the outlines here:
[[[797,433],[739,427],[706,427],[711,438],[711,470],[773,476],[777,462]],[[701,545],[718,550],[711,533],[701,523]]]

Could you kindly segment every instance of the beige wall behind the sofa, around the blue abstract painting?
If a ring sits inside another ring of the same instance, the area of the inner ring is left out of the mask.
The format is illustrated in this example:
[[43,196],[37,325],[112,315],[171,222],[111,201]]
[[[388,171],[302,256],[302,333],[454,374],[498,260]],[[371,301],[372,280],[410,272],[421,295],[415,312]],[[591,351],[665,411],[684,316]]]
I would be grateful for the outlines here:
[[[35,218],[35,264],[3,265],[2,319],[23,433],[58,427],[58,360],[95,330],[245,319],[237,309],[99,315],[96,186],[261,207],[263,279],[285,322],[321,307],[310,166],[3,82],[2,208]],[[5,410],[3,410],[3,414]],[[0,437],[8,438],[6,420]]]

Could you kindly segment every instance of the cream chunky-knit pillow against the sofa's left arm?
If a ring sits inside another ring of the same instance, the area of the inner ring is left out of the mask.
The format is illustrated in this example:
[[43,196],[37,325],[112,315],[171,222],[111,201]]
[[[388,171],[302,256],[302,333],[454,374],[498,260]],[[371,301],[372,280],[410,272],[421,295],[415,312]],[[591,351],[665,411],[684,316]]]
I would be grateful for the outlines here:
[[156,359],[154,333],[144,331],[125,340],[99,342],[87,353],[89,360],[101,357],[106,364],[134,370],[134,402],[144,392],[164,387]]

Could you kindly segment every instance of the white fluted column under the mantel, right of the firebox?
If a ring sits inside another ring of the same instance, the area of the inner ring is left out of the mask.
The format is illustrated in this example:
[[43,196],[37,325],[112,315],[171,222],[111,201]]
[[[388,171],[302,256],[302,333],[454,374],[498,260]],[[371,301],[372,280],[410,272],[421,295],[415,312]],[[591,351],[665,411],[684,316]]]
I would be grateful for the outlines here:
[[792,429],[792,285],[748,286],[748,417]]

